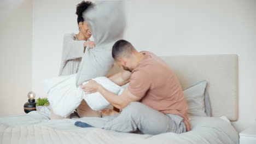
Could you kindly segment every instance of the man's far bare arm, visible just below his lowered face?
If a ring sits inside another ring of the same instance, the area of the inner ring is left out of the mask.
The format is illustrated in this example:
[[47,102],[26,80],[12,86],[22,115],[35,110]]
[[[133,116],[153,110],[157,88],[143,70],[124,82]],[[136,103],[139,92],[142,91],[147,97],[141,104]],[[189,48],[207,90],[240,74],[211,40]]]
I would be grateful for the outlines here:
[[113,81],[115,84],[119,86],[123,86],[126,83],[130,82],[131,72],[127,70],[122,70],[117,74],[109,76],[108,79]]

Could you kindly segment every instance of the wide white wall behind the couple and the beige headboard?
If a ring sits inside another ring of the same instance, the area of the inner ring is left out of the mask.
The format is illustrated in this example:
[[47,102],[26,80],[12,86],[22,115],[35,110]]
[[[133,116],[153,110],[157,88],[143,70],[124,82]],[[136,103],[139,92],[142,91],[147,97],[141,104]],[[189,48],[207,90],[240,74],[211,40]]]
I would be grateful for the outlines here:
[[[59,72],[63,34],[78,32],[78,2],[33,1],[32,89],[39,97],[42,80]],[[127,1],[125,39],[159,56],[237,54],[239,118],[232,124],[241,131],[256,124],[255,7],[253,0]]]

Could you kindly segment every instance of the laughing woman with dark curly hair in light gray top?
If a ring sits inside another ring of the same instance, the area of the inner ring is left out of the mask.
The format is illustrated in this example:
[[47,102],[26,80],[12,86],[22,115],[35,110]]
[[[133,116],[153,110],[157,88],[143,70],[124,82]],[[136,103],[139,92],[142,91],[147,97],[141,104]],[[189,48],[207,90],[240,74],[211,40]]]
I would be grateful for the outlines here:
[[[93,7],[94,4],[89,1],[82,1],[77,5],[77,22],[79,26],[78,34],[65,34],[63,38],[63,50],[61,59],[61,68],[59,76],[71,75],[78,72],[79,64],[82,60],[86,47],[90,49],[95,47],[94,41],[90,41],[91,31],[86,21],[83,19],[83,13],[86,9]],[[101,117],[99,111],[92,110],[85,100],[77,107],[79,117]],[[60,119],[61,116],[51,112],[51,119]]]

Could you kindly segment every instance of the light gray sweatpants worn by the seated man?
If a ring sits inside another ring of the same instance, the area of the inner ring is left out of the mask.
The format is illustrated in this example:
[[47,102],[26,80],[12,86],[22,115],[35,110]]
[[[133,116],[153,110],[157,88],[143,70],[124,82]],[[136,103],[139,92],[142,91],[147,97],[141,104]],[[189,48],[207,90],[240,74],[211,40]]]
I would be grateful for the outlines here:
[[149,135],[166,132],[179,134],[186,131],[182,117],[161,113],[139,102],[132,102],[120,114],[110,116],[104,129],[120,132],[141,131]]

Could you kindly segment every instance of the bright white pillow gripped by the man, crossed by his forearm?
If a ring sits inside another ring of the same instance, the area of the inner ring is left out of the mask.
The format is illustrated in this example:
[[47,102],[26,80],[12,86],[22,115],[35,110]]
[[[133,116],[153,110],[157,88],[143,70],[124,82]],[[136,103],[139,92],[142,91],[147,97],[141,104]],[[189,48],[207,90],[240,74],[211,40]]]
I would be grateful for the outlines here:
[[[72,113],[84,99],[92,110],[105,109],[109,102],[98,92],[86,94],[81,87],[76,87],[75,76],[77,74],[68,76],[59,76],[44,81],[45,92],[49,99],[51,108],[54,113],[66,117]],[[97,83],[100,83],[108,91],[120,95],[124,89],[107,77],[96,77]],[[88,82],[84,82],[85,85]]]

